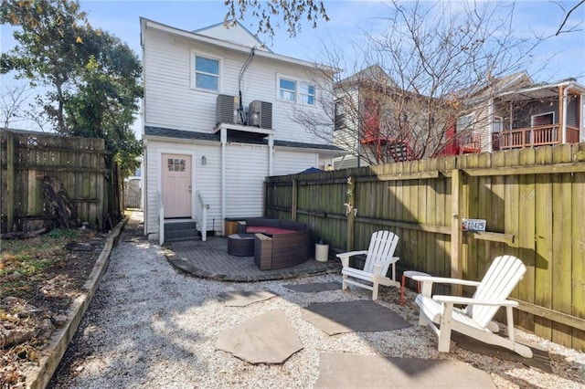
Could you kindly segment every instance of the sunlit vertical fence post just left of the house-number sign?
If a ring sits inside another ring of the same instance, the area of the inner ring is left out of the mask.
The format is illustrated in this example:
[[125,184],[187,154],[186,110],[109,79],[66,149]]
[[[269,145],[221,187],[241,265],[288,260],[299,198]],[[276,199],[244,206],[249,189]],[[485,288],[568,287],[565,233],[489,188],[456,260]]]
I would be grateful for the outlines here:
[[[461,220],[461,191],[463,187],[463,173],[459,169],[454,169],[451,178],[452,194],[452,222],[451,222],[451,277],[453,279],[463,278],[463,230]],[[452,286],[452,293],[461,295],[463,288],[461,285]]]

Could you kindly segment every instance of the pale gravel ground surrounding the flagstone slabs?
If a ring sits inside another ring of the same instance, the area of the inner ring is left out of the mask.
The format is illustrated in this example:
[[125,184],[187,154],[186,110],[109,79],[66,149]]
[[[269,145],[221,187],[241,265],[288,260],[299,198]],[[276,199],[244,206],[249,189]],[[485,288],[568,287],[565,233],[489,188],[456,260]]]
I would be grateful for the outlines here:
[[[379,303],[413,325],[399,331],[328,336],[301,318],[312,302],[367,300],[367,290],[299,293],[284,284],[339,281],[338,275],[257,283],[196,279],[178,272],[153,242],[122,233],[90,309],[80,323],[53,388],[310,388],[321,352],[393,357],[444,358],[490,373],[501,388],[585,388],[585,353],[517,331],[550,352],[553,373],[465,351],[439,353],[436,337],[417,325],[418,309],[400,307],[398,290],[382,287]],[[279,296],[247,307],[226,307],[221,292],[271,290]],[[407,290],[406,300],[414,293]],[[215,349],[227,331],[270,310],[283,310],[298,331],[303,350],[282,365],[251,365]]]

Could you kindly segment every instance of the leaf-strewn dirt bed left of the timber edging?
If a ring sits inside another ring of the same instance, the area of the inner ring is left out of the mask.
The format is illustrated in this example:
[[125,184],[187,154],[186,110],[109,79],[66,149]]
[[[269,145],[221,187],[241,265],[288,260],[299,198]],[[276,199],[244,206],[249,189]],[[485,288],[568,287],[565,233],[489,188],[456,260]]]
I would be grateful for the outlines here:
[[89,229],[53,230],[1,242],[0,388],[24,383],[23,369],[48,352],[48,339],[85,291],[106,238]]

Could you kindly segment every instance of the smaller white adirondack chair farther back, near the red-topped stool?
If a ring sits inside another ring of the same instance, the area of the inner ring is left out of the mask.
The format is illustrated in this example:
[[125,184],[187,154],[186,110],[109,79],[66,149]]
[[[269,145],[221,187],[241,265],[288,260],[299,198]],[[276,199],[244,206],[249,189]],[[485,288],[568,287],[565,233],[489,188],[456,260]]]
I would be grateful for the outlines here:
[[[399,243],[399,237],[390,231],[377,231],[372,234],[367,250],[349,251],[337,254],[341,259],[343,268],[342,289],[347,289],[347,284],[356,285],[360,288],[372,290],[372,300],[378,300],[378,286],[385,285],[399,288],[400,284],[396,280],[396,262],[398,257],[393,257],[394,250]],[[351,268],[349,258],[358,255],[367,254],[366,264],[363,269]],[[392,278],[386,277],[389,266],[392,265]],[[372,285],[357,281],[361,279],[371,282]]]

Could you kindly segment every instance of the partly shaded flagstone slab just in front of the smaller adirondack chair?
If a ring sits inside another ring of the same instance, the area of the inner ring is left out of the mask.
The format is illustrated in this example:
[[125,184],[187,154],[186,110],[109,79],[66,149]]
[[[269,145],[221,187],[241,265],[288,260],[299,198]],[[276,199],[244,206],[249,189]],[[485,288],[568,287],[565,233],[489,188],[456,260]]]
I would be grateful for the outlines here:
[[303,309],[302,317],[328,335],[410,327],[398,313],[371,300],[314,302]]

